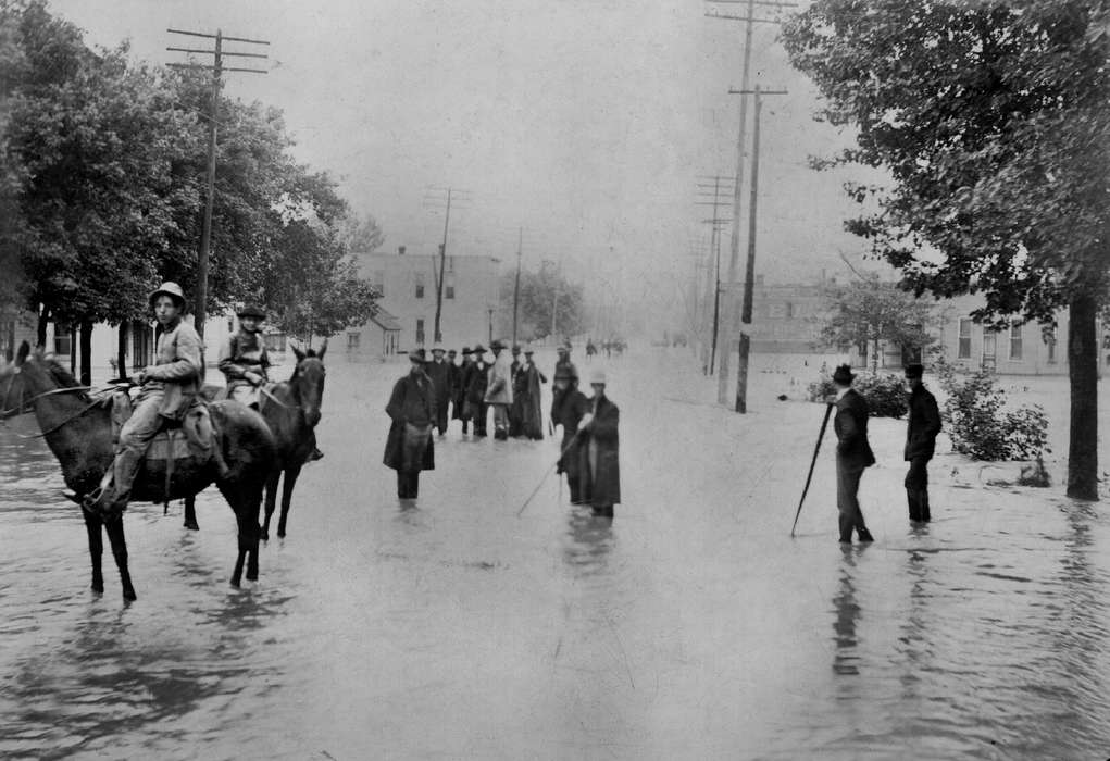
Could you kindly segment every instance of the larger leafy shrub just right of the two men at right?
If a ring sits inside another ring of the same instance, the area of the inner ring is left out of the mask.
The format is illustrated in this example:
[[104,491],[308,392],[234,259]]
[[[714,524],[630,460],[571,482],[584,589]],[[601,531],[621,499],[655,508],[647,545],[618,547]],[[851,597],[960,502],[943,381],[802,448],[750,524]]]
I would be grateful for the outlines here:
[[1039,405],[1006,408],[1006,393],[990,371],[960,380],[951,365],[937,363],[948,394],[944,418],[956,451],[972,459],[1039,459],[1049,451],[1048,418]]

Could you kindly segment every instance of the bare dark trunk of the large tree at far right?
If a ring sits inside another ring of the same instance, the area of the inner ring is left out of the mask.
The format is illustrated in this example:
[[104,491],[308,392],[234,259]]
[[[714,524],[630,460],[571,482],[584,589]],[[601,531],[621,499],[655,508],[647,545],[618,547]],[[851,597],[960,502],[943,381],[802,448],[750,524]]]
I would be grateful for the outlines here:
[[1068,439],[1068,496],[1099,498],[1098,307],[1089,295],[1076,296],[1068,312],[1068,378],[1071,382],[1071,428]]

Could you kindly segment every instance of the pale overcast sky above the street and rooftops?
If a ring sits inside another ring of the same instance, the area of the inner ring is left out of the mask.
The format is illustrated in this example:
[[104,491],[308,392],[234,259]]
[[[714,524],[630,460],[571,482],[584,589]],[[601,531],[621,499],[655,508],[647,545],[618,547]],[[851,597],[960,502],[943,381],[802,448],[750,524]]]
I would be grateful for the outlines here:
[[[702,0],[51,7],[87,41],[130,39],[155,62],[183,60],[168,45],[203,43],[167,28],[269,40],[270,73],[230,74],[228,93],[282,109],[297,156],[341,181],[387,248],[433,252],[443,216],[430,187],[453,186],[468,199],[452,211],[453,253],[511,262],[524,227],[526,266],[562,261],[575,278],[624,281],[635,298],[673,282],[650,273],[688,276],[708,234],[697,177],[735,171],[739,102],[727,91],[740,84],[744,24],[705,18],[714,6]],[[789,90],[764,110],[757,271],[793,282],[846,272],[838,252],[855,258],[861,245],[841,230],[845,175],[806,168],[846,139],[813,121],[814,90],[776,34],[759,24],[753,48],[753,84]]]

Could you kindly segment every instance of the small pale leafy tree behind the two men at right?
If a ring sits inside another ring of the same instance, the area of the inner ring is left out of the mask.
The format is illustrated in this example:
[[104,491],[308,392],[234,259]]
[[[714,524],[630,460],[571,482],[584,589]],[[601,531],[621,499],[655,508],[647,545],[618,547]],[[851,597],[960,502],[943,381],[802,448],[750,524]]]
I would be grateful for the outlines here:
[[897,283],[868,276],[830,285],[825,296],[828,316],[821,318],[823,344],[858,347],[860,354],[870,355],[872,373],[879,367],[881,343],[925,348],[935,341],[927,329],[934,322],[932,304]]

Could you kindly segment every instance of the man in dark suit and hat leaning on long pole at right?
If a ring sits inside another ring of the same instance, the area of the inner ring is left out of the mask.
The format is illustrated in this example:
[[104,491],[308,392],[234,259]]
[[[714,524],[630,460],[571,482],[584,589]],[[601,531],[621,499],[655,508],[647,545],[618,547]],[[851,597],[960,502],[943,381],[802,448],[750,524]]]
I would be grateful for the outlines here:
[[875,465],[875,454],[867,440],[867,419],[870,415],[867,399],[851,387],[855,375],[848,365],[840,365],[833,373],[837,387],[836,417],[836,506],[840,511],[840,541],[851,544],[855,529],[860,541],[875,541],[864,522],[859,509],[859,479],[864,470]]

